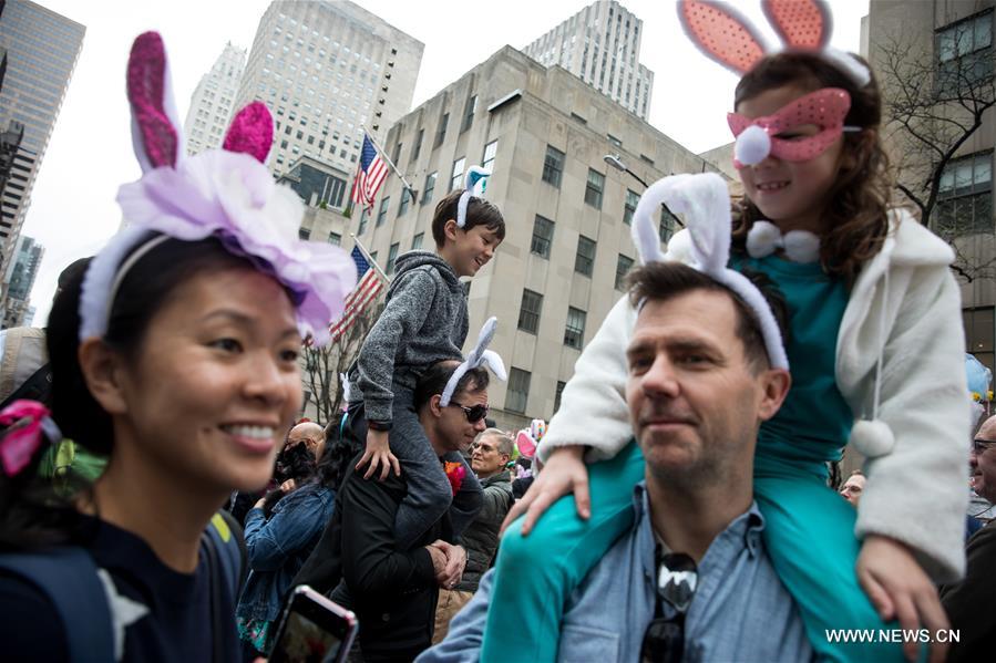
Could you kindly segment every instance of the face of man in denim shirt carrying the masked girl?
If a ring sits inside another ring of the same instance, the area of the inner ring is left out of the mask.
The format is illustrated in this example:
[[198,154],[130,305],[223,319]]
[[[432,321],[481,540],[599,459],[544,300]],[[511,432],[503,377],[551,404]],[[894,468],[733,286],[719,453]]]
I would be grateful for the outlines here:
[[766,385],[783,371],[748,364],[737,311],[723,292],[694,290],[649,300],[627,349],[626,400],[651,473],[719,478],[751,472],[759,422],[783,393]]

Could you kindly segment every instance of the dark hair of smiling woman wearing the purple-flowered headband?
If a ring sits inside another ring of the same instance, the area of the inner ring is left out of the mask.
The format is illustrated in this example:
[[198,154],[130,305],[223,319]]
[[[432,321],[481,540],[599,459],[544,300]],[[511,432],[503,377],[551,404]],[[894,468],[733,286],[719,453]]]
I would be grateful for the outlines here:
[[[135,262],[121,282],[105,342],[126,359],[137,360],[150,322],[181,284],[205,271],[235,267],[254,266],[229,253],[217,239],[167,239]],[[52,369],[52,418],[65,437],[106,456],[114,446],[111,416],[91,395],[78,359],[85,269],[68,272],[52,302],[45,330]],[[57,494],[50,479],[38,476],[43,455],[37,452],[14,477],[0,475],[0,547],[55,545],[81,532],[82,519],[71,497]]]

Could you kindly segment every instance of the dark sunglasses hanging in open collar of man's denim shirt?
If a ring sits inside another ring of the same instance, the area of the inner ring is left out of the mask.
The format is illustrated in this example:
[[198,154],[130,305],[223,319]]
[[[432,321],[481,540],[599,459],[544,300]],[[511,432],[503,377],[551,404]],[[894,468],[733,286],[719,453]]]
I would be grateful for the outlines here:
[[[657,567],[657,604],[653,621],[644,632],[641,663],[679,663],[685,654],[685,614],[695,595],[698,571],[695,560],[684,552],[660,558]],[[674,608],[664,617],[664,601]]]

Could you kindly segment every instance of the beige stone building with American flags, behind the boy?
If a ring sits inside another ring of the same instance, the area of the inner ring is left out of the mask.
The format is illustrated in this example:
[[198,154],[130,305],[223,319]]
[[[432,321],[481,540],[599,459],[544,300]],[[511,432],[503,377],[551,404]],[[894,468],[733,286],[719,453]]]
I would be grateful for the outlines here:
[[[507,235],[470,282],[464,350],[496,315],[492,349],[510,379],[493,385],[490,400],[507,427],[554,413],[637,260],[629,219],[643,186],[604,157],[616,155],[646,182],[718,170],[566,70],[511,46],[401,117],[383,147],[417,200],[391,176],[373,213],[355,215],[349,227],[389,273],[398,255],[433,248],[435,204],[462,186],[470,166],[494,173],[485,196],[504,214]],[[661,216],[663,238],[674,229]]]

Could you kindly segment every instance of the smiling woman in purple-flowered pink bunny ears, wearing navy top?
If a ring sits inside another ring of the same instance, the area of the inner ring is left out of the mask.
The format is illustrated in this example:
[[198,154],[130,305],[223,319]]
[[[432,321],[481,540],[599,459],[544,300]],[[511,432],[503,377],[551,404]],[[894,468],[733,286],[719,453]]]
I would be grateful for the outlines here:
[[[53,303],[52,413],[0,413],[7,660],[240,659],[240,533],[218,509],[269,479],[301,405],[301,334],[324,340],[355,282],[345,253],[298,241],[301,204],[261,163],[265,107],[236,116],[225,151],[182,160],[165,70],[158,34],[136,39],[144,175],[119,193],[129,227]],[[37,477],[55,424],[109,457],[69,499]]]

